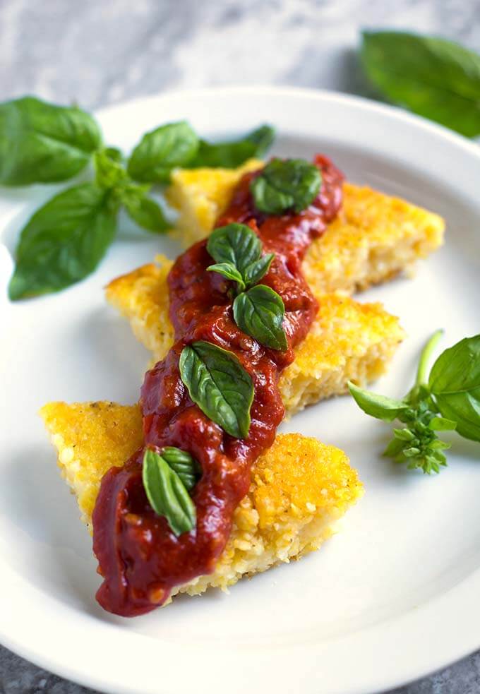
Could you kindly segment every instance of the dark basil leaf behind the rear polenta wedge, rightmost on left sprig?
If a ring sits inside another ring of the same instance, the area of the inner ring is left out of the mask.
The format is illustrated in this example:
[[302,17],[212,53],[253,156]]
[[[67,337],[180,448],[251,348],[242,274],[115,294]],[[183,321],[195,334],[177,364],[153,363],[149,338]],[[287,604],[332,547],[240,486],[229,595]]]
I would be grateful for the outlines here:
[[270,149],[274,138],[274,128],[264,125],[248,133],[244,138],[232,142],[208,143],[200,140],[198,153],[188,166],[236,169],[248,159],[263,157]]

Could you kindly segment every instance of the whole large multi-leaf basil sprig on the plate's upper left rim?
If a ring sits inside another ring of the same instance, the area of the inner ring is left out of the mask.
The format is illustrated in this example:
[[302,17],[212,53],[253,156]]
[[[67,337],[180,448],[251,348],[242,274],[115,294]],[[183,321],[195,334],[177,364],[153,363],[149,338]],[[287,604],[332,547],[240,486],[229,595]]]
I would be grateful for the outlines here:
[[150,196],[174,167],[236,167],[272,143],[270,126],[229,143],[200,140],[185,121],[146,133],[127,161],[102,145],[95,119],[77,107],[35,97],[0,104],[0,185],[66,181],[93,163],[95,182],[62,191],[39,208],[20,234],[11,299],[56,292],[92,273],[112,243],[124,208],[143,229],[164,233],[169,222]]

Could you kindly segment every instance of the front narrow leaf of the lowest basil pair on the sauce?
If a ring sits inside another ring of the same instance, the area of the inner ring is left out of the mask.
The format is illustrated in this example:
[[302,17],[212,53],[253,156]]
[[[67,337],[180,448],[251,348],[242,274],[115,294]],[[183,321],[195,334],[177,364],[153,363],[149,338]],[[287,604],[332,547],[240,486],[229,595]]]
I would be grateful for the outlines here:
[[152,509],[167,518],[177,537],[195,527],[195,505],[179,474],[170,467],[164,455],[145,449],[142,480]]

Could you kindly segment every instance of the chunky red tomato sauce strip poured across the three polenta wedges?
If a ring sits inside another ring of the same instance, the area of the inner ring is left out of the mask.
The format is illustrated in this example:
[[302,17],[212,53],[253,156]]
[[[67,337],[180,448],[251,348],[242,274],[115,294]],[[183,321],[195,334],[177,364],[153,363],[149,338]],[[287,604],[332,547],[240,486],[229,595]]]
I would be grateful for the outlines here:
[[[342,174],[318,155],[320,193],[299,214],[263,215],[253,206],[246,174],[217,226],[243,222],[275,253],[263,280],[285,305],[287,352],[267,349],[237,328],[232,317],[229,283],[206,268],[213,261],[206,241],[183,253],[169,273],[170,318],[176,343],[167,357],[145,374],[140,403],[145,445],[173,445],[198,460],[202,476],[192,491],[197,525],[176,537],[167,520],[150,507],[142,483],[144,448],[124,467],[104,475],[93,512],[93,549],[104,578],[97,600],[122,616],[145,614],[164,604],[173,587],[212,573],[232,527],[234,510],[248,491],[253,462],[272,445],[284,417],[278,389],[282,370],[292,363],[318,311],[301,271],[312,239],[325,231],[342,204]],[[207,340],[234,352],[253,379],[255,397],[248,437],[225,433],[193,404],[179,375],[184,345]]]

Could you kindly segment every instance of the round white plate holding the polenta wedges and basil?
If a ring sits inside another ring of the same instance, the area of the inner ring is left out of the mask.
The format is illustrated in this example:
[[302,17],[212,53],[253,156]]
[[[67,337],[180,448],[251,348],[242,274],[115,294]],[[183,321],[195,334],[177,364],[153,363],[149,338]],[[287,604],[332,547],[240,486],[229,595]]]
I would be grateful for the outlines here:
[[[267,121],[278,128],[276,153],[326,152],[349,180],[444,215],[447,243],[416,279],[361,297],[384,301],[409,333],[379,390],[407,390],[419,348],[436,328],[448,331],[444,346],[479,332],[478,145],[396,109],[306,90],[189,92],[97,115],[108,142],[126,149],[146,129],[176,119],[212,137]],[[9,249],[32,198],[40,203],[52,187],[35,196],[1,192]],[[452,436],[448,469],[432,478],[407,472],[379,456],[388,426],[348,397],[311,407],[285,427],[344,448],[365,483],[343,532],[320,552],[241,582],[229,596],[182,597],[130,621],[97,606],[90,537],[36,412],[48,400],[136,400],[147,354],[104,303],[102,286],[157,251],[173,257],[179,249],[124,225],[95,275],[8,311],[0,360],[4,644],[115,694],[371,693],[479,647],[479,446]]]

